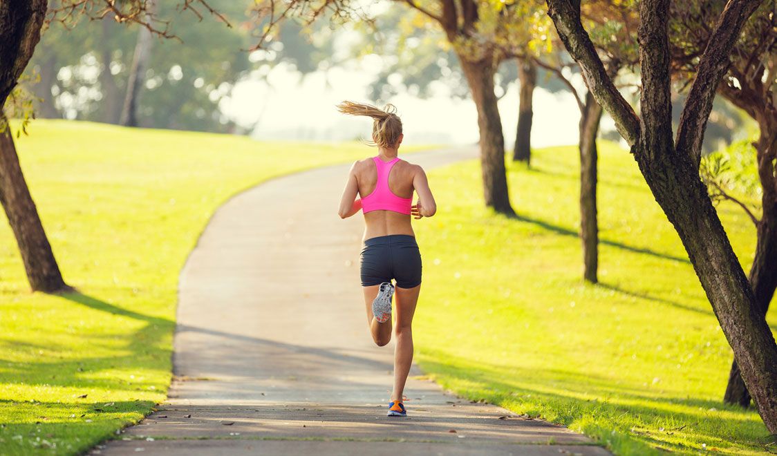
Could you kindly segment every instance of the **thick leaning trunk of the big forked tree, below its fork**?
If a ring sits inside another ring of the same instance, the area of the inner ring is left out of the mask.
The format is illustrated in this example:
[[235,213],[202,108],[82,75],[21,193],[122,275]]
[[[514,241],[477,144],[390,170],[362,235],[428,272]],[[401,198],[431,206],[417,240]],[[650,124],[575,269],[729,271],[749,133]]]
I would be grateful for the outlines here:
[[695,164],[687,151],[640,148],[639,169],[680,235],[761,418],[777,433],[777,345]]

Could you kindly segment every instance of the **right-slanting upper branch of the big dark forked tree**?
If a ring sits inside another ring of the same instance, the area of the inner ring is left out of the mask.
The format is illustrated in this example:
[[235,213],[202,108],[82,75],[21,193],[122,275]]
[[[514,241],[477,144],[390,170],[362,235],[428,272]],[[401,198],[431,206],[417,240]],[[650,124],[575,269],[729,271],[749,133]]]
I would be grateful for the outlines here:
[[690,154],[696,166],[702,156],[702,140],[720,79],[729,68],[729,54],[753,12],[763,0],[730,0],[709,37],[695,81],[680,115],[675,147]]

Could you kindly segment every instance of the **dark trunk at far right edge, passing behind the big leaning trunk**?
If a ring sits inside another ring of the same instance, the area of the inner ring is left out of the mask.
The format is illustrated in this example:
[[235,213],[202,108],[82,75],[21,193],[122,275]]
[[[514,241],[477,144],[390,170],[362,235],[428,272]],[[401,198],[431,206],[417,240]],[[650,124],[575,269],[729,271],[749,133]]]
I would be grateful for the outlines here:
[[[758,154],[758,176],[763,188],[763,216],[758,222],[758,237],[749,279],[758,312],[765,318],[777,288],[777,176],[773,162],[777,157],[777,126],[768,124],[768,121],[759,124],[761,134],[755,148]],[[747,391],[737,361],[734,360],[723,401],[747,407],[750,406],[750,400],[750,392]]]

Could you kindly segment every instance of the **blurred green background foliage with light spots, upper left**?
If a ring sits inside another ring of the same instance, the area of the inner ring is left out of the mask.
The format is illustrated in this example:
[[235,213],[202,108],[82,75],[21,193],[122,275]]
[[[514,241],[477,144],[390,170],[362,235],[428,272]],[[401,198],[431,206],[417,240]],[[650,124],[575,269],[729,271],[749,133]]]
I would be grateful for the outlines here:
[[[229,17],[245,15],[249,5],[228,0],[211,3]],[[166,21],[166,30],[176,38],[159,38],[154,44],[139,106],[141,124],[227,131],[231,126],[219,103],[249,69],[247,31],[219,21],[200,21],[197,15],[179,12],[174,2],[162,2],[159,9],[159,16],[171,18]],[[51,23],[28,72],[52,71],[54,85],[34,89],[41,98],[51,98],[61,117],[110,121],[116,115],[106,112],[109,106],[120,110],[124,103],[141,26],[79,16],[64,24]],[[108,83],[117,89],[106,87]]]

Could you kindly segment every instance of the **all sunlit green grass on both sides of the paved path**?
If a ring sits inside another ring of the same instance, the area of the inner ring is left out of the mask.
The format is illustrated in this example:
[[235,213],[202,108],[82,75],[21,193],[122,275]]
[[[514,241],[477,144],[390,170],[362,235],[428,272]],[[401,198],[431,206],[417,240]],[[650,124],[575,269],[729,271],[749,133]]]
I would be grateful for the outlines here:
[[[162,402],[178,273],[214,209],[265,179],[366,152],[47,121],[18,145],[79,293],[31,294],[0,224],[2,454],[84,451]],[[774,448],[757,413],[720,402],[730,349],[699,281],[632,158],[601,149],[598,286],[580,280],[574,148],[510,170],[519,219],[482,207],[476,162],[430,172],[441,210],[416,224],[422,367],[458,394],[565,423],[618,454]],[[737,207],[719,212],[749,265],[751,222]]]

